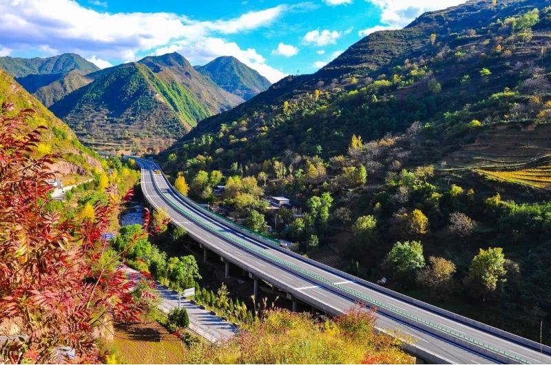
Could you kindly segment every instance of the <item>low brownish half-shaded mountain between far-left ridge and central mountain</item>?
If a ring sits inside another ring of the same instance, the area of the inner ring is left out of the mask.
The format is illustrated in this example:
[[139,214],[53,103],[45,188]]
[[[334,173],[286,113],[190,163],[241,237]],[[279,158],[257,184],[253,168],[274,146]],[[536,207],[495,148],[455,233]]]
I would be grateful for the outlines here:
[[92,78],[86,75],[87,71],[73,70],[62,74],[28,75],[16,80],[42,104],[50,107],[68,93],[90,84]]

